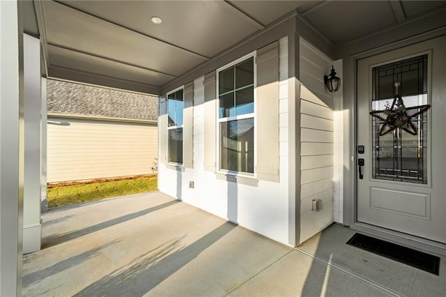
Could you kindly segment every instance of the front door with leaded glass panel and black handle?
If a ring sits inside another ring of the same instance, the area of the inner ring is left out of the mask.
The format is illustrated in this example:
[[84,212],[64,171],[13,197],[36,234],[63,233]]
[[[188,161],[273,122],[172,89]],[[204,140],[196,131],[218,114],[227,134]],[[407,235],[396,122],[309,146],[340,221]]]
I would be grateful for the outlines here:
[[[446,37],[362,59],[357,75],[357,146],[364,146],[357,221],[446,243]],[[396,82],[406,111],[391,108]],[[431,107],[410,117],[420,105]],[[379,115],[387,121],[369,114],[386,107]]]

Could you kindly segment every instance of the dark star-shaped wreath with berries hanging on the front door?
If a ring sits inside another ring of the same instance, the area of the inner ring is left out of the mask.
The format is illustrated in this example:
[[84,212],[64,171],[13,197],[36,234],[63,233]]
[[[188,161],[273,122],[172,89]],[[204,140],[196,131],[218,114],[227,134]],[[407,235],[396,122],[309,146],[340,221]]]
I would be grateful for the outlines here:
[[397,128],[401,128],[411,135],[417,135],[417,129],[412,123],[412,118],[426,112],[429,107],[431,105],[406,108],[401,96],[397,95],[391,106],[387,104],[384,110],[375,110],[374,112],[370,112],[370,115],[383,121],[383,126],[379,130],[379,136],[383,136]]

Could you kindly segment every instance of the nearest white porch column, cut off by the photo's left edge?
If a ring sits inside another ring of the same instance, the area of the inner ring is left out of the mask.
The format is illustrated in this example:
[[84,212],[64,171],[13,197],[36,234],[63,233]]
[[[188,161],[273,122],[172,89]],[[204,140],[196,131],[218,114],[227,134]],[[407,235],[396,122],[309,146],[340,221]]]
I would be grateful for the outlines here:
[[20,3],[0,1],[0,296],[21,296],[23,37]]

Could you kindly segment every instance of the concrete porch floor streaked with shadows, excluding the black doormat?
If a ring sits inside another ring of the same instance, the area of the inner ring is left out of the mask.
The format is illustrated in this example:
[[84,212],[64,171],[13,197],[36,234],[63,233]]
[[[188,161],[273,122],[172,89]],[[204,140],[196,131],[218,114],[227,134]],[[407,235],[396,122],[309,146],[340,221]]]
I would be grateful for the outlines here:
[[440,275],[346,245],[333,224],[298,248],[160,192],[51,209],[24,255],[24,296],[445,296]]

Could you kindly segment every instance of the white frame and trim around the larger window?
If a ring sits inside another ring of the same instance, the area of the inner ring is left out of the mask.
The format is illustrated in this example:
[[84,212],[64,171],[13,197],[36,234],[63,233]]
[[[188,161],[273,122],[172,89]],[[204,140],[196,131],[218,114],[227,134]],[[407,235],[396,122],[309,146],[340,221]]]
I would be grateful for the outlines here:
[[[236,64],[243,62],[249,58],[254,58],[254,112],[250,113],[250,114],[242,114],[239,116],[229,116],[226,118],[222,118],[220,119],[220,98],[219,98],[219,77],[220,77],[220,72],[222,70],[225,70],[226,68],[230,68],[232,66],[235,66]],[[240,176],[240,177],[244,177],[244,178],[256,178],[257,174],[256,174],[256,167],[257,167],[257,112],[256,112],[256,88],[257,88],[257,66],[256,66],[256,51],[251,52],[249,54],[246,54],[245,56],[240,57],[239,59],[236,59],[234,61],[232,61],[231,63],[228,63],[220,68],[217,68],[217,70],[215,70],[216,73],[216,87],[215,87],[215,98],[217,98],[217,104],[215,105],[216,108],[216,121],[217,121],[217,126],[216,126],[216,139],[215,139],[215,143],[216,145],[216,165],[217,168],[215,170],[216,174],[224,174],[226,176]],[[228,122],[228,121],[234,121],[234,120],[241,120],[241,119],[254,119],[254,173],[249,173],[249,172],[234,172],[231,170],[226,170],[226,169],[221,169],[220,168],[220,123],[222,122]]]

